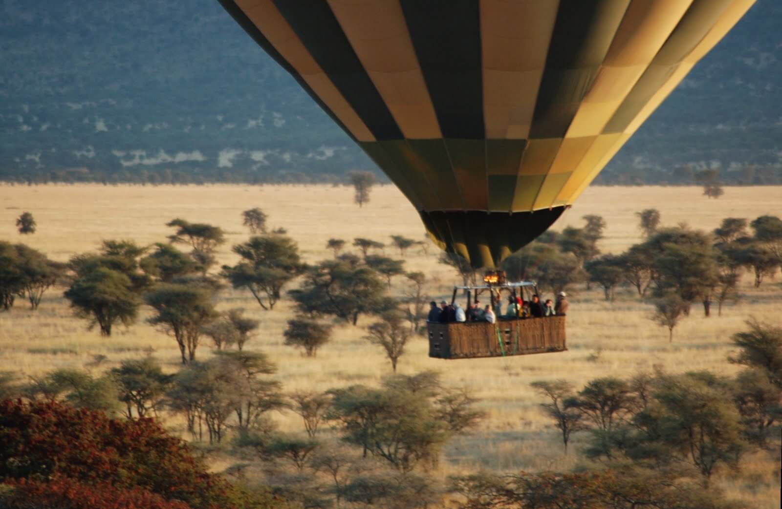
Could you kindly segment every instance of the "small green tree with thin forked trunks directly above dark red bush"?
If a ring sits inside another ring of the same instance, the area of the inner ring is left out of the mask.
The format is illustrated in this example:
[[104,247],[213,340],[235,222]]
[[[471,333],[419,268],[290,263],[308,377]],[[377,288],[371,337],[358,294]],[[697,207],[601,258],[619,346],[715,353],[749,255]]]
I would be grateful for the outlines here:
[[173,375],[166,375],[152,357],[123,360],[109,371],[119,389],[119,400],[125,404],[128,419],[157,415]]

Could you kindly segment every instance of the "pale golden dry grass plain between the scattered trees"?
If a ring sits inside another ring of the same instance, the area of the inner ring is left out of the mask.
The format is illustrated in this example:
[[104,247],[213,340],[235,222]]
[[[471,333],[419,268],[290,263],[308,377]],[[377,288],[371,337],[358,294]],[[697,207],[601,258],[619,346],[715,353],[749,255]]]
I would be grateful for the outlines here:
[[[782,188],[726,188],[716,200],[706,199],[700,188],[589,188],[576,206],[554,225],[580,225],[588,213],[601,214],[608,222],[601,249],[619,253],[639,241],[634,213],[655,207],[662,223],[686,222],[693,228],[712,230],[723,217],[752,219],[765,213],[782,214]],[[228,232],[228,242],[218,255],[221,263],[232,259],[231,245],[248,237],[242,227],[242,210],[259,206],[272,227],[284,227],[300,244],[303,256],[314,262],[331,253],[328,238],[368,237],[388,242],[389,235],[423,238],[418,214],[391,186],[375,188],[371,203],[358,209],[350,188],[330,186],[105,187],[100,185],[0,185],[0,239],[25,242],[56,260],[95,250],[102,239],[130,238],[142,244],[163,242],[170,234],[165,223],[174,217],[216,224]],[[29,210],[38,220],[35,235],[20,237],[14,218]],[[429,256],[411,249],[407,270],[425,271],[432,281],[432,298],[450,294],[457,281],[448,267],[436,263],[436,249]],[[386,249],[393,256],[393,249]],[[398,253],[397,253],[398,254]],[[454,440],[447,448],[439,475],[467,473],[479,468],[500,471],[566,469],[578,455],[565,456],[558,436],[540,413],[541,402],[529,382],[566,378],[576,385],[603,375],[626,377],[659,365],[671,372],[709,369],[732,374],[726,362],[730,336],[744,328],[751,315],[769,322],[782,316],[782,281],[768,281],[752,288],[741,283],[741,299],[729,304],[723,316],[702,317],[698,312],[676,328],[673,343],[667,332],[649,321],[650,308],[630,290],[619,292],[615,303],[602,293],[579,289],[571,299],[569,351],[527,357],[444,361],[429,359],[424,339],[417,339],[400,360],[400,371],[436,370],[444,382],[465,385],[481,400],[488,419],[479,432]],[[393,292],[402,289],[401,278]],[[362,339],[360,327],[339,326],[332,343],[317,358],[301,357],[282,344],[282,329],[290,316],[289,303],[264,312],[249,293],[226,290],[221,308],[243,306],[262,321],[262,332],[249,349],[266,352],[278,364],[278,378],[286,390],[317,389],[353,383],[374,384],[389,373],[381,352]],[[715,314],[716,315],[716,314]],[[108,357],[103,367],[152,352],[171,371],[178,367],[173,339],[143,320],[131,328],[119,328],[110,339],[88,332],[84,322],[70,316],[62,289],[48,292],[33,313],[19,303],[0,314],[0,369],[35,375],[56,367],[82,367],[97,354]],[[598,354],[599,353],[599,354]],[[199,356],[210,355],[209,346]],[[302,428],[294,414],[275,416],[281,428]],[[576,438],[576,450],[578,448]],[[780,507],[779,466],[765,453],[748,457],[740,473],[721,471],[717,477],[729,496],[746,500],[748,507]]]

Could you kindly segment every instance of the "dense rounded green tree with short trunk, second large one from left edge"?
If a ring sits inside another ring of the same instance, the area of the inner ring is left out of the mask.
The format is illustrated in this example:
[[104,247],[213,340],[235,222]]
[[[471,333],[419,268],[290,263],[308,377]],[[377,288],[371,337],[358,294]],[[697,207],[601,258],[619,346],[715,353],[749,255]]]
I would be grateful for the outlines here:
[[64,295],[74,314],[88,319],[88,328],[97,324],[105,336],[111,335],[117,323],[132,324],[141,305],[130,278],[106,267],[95,267],[77,277]]

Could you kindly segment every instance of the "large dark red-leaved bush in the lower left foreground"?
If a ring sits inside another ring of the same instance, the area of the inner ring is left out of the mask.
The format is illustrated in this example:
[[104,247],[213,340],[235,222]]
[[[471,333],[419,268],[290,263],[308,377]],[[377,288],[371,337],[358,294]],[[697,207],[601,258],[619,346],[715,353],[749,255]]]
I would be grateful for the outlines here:
[[59,403],[5,400],[0,402],[0,482],[15,479],[39,489],[44,488],[38,482],[65,479],[138,489],[192,507],[224,505],[231,498],[228,482],[208,473],[186,443],[151,419],[120,421]]

